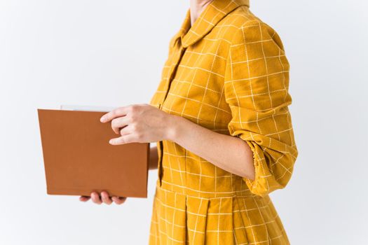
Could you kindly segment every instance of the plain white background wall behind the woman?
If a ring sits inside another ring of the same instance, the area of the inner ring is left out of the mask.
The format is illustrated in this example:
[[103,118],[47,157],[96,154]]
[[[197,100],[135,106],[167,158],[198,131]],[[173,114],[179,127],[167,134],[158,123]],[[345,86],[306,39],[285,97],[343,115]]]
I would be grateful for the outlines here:
[[[36,109],[147,103],[189,3],[0,1],[0,244],[147,244],[149,198],[46,195]],[[367,1],[251,0],[281,36],[299,148],[271,194],[292,244],[367,244]],[[366,15],[366,16],[364,16]]]

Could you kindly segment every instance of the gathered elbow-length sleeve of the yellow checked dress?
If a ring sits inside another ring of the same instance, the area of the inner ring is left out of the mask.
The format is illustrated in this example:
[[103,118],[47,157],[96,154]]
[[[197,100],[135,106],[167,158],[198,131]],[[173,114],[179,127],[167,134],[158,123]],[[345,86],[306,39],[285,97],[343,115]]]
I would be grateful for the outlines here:
[[285,188],[298,155],[288,108],[289,62],[280,36],[264,22],[247,22],[233,35],[224,79],[228,128],[252,149],[255,179],[243,177],[247,187],[268,195]]

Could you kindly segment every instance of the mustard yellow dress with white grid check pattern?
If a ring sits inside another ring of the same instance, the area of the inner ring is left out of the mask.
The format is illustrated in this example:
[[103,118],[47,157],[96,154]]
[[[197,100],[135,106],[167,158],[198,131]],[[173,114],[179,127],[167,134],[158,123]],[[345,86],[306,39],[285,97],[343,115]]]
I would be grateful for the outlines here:
[[187,11],[168,51],[150,104],[246,141],[256,178],[158,141],[149,244],[289,244],[268,196],[287,185],[298,155],[280,36],[249,0],[214,0],[192,27]]

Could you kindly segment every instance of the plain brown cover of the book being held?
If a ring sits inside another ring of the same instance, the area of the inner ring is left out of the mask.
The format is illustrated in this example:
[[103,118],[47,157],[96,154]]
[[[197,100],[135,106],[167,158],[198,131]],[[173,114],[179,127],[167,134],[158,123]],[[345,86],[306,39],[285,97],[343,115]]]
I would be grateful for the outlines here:
[[37,111],[49,195],[147,197],[149,143],[109,144],[106,111]]

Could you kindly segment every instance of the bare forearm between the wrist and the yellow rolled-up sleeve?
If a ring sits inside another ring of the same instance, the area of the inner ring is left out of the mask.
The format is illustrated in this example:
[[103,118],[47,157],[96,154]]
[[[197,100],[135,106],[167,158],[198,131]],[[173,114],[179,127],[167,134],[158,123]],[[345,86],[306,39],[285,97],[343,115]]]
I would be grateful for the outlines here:
[[167,138],[221,169],[254,180],[253,153],[243,139],[208,130],[180,116],[168,120]]

